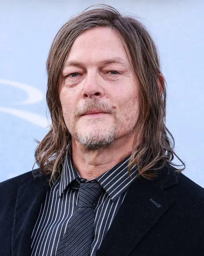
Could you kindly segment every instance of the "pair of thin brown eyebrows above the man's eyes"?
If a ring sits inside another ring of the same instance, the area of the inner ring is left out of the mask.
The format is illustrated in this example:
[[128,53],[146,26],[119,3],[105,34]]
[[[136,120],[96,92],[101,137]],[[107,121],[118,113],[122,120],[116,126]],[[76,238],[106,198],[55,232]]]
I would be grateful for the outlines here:
[[[129,64],[124,61],[123,58],[120,57],[115,57],[115,58],[110,58],[110,59],[106,59],[103,61],[99,61],[99,64],[101,65],[108,65],[108,64],[112,64],[112,63],[116,63],[116,64],[122,64],[125,67],[129,67]],[[75,67],[83,67],[84,64],[81,61],[66,61],[65,64],[63,65],[63,69],[69,66],[75,66]]]

